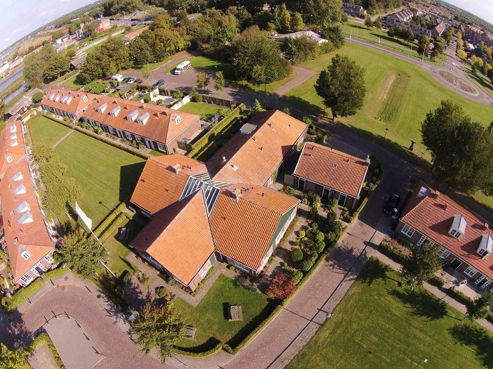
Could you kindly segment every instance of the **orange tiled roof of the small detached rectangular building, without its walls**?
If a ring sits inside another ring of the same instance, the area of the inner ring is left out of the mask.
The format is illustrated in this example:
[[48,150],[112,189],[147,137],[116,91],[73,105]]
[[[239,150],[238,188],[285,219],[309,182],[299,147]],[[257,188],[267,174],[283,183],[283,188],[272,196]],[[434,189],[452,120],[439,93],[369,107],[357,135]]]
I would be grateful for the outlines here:
[[368,162],[356,156],[307,142],[301,151],[294,175],[359,197]]

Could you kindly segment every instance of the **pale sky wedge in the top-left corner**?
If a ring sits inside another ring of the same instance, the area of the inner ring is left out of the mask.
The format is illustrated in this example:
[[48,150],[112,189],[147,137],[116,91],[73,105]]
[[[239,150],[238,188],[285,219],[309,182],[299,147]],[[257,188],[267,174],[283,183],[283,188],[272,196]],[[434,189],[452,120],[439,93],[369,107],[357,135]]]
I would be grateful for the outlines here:
[[0,51],[39,27],[94,0],[0,0]]

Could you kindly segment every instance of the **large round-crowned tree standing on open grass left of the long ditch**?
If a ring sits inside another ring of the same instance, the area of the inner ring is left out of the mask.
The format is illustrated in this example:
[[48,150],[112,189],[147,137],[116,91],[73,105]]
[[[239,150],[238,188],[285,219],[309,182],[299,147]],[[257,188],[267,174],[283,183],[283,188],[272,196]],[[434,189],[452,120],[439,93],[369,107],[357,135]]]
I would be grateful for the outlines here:
[[332,118],[356,114],[366,94],[365,70],[345,55],[336,54],[318,75],[315,91],[332,111]]

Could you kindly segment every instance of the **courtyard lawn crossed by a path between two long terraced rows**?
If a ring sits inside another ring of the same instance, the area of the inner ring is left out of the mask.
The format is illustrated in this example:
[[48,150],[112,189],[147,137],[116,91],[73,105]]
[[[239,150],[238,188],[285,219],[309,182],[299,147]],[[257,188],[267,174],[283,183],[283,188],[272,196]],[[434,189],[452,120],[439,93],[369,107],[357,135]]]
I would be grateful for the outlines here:
[[[60,127],[64,126],[38,119],[30,126],[31,135],[35,142],[46,132],[60,136]],[[78,203],[92,218],[94,227],[110,209],[131,196],[144,165],[142,158],[77,131],[58,144],[55,153],[67,165],[68,175],[79,184],[82,197]]]

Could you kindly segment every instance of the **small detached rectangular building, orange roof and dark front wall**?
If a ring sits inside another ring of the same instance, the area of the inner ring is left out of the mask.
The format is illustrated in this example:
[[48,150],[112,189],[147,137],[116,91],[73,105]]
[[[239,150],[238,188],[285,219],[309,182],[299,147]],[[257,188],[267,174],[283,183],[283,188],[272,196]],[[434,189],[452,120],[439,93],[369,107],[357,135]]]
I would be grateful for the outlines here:
[[336,198],[339,205],[356,205],[370,164],[365,159],[307,142],[293,172],[292,186],[318,193],[322,198]]

